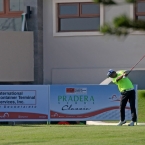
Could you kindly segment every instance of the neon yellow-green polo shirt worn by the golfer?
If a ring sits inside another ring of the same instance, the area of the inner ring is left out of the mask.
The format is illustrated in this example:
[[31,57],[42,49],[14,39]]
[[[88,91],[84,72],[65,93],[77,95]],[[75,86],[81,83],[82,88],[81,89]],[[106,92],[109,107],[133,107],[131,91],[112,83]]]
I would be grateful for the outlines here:
[[118,89],[119,89],[120,92],[123,92],[124,90],[129,90],[129,89],[134,88],[132,82],[130,81],[130,79],[128,77],[122,78],[118,82],[116,81],[116,79],[119,76],[121,76],[124,72],[125,72],[124,70],[116,72],[117,73],[116,78],[112,78],[112,82],[115,83],[118,86]]

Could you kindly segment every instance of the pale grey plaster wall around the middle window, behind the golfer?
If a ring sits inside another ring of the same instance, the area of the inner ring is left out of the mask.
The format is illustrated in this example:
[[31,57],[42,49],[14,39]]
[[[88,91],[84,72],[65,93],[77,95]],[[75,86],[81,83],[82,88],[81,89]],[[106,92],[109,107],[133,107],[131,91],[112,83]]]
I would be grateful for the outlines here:
[[[130,69],[145,53],[145,35],[53,36],[53,0],[44,0],[44,83],[100,83],[107,70]],[[131,6],[105,7],[104,19],[127,13]],[[145,60],[136,69],[144,70]],[[138,76],[139,77],[139,76]]]

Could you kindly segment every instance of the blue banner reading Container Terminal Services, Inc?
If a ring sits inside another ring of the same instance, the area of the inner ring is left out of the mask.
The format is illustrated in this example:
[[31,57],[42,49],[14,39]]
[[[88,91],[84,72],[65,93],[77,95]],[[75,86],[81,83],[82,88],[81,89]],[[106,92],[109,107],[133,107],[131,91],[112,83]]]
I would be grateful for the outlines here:
[[48,85],[0,86],[0,121],[48,121]]

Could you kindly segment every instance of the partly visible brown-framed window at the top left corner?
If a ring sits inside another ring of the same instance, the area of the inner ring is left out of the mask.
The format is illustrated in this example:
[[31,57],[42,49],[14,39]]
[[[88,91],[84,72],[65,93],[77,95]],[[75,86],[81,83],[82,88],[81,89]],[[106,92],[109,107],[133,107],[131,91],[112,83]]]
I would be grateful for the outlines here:
[[24,0],[0,0],[0,18],[20,17]]

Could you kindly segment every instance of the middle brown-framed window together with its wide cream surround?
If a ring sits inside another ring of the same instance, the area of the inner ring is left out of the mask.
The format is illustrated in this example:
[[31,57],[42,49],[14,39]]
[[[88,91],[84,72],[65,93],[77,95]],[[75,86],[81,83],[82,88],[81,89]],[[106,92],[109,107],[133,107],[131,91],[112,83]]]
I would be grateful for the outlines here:
[[92,0],[53,0],[53,35],[102,35],[103,5]]

